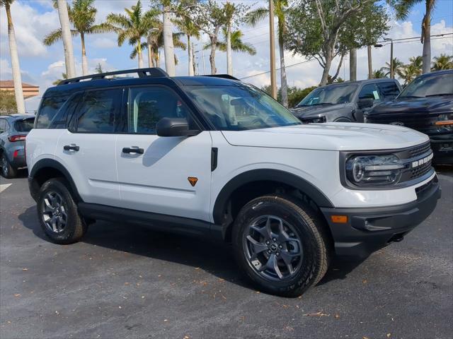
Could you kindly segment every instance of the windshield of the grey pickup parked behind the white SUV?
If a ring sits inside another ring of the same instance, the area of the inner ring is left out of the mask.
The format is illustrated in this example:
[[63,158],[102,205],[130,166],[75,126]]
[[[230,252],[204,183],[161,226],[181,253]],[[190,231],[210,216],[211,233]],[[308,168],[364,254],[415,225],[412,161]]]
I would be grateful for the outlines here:
[[297,107],[314,106],[314,105],[336,105],[351,102],[357,85],[333,85],[322,88],[316,88],[304,100],[299,102]]

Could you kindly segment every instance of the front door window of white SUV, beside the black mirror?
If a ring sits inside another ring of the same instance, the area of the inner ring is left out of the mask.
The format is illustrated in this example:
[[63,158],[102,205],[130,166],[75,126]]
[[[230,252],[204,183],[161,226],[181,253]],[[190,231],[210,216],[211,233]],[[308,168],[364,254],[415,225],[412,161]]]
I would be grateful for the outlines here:
[[193,124],[188,109],[176,93],[163,87],[130,88],[127,130],[134,134],[156,134],[156,124],[164,117],[186,118]]

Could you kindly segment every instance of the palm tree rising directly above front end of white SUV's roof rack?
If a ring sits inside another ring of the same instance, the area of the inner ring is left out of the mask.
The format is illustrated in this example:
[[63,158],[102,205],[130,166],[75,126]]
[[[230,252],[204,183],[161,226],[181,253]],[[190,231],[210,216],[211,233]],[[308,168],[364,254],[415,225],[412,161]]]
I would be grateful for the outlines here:
[[126,39],[134,46],[139,59],[139,69],[142,69],[142,37],[147,37],[149,30],[156,27],[158,12],[156,9],[151,9],[143,13],[140,0],[137,1],[137,5],[125,8],[125,11],[127,16],[110,13],[107,16],[107,23],[110,25],[109,29],[118,35],[118,46],[122,46]]

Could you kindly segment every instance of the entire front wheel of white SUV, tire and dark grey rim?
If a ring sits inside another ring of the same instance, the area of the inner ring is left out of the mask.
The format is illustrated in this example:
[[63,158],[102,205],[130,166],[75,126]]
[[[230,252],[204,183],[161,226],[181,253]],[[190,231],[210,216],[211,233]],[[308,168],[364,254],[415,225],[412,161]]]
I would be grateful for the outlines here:
[[243,206],[233,230],[241,268],[260,290],[297,297],[323,278],[328,242],[318,215],[287,196],[262,196]]

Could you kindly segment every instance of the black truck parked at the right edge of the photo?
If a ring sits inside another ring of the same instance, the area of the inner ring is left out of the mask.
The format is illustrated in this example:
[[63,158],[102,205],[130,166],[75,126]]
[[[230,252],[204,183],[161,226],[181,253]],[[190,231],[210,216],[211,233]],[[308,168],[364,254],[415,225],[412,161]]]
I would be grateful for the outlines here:
[[453,164],[453,70],[415,78],[395,100],[366,115],[374,124],[406,126],[430,137],[434,162]]

